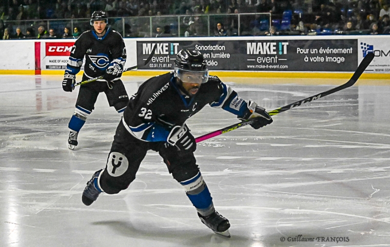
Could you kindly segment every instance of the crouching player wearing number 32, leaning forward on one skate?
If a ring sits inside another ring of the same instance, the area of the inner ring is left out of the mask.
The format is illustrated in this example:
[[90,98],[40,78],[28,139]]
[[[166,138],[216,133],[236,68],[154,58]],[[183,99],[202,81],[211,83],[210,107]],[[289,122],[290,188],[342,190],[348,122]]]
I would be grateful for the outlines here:
[[194,49],[181,50],[175,71],[144,82],[130,98],[104,169],[87,183],[82,202],[89,206],[101,192],[117,194],[136,178],[148,150],[163,158],[169,172],[182,185],[200,220],[218,234],[230,237],[229,221],[214,208],[213,200],[194,156],[195,138],[186,120],[206,104],[229,111],[239,119],[258,117],[258,129],[273,120],[264,108],[241,99],[218,77],[209,76],[206,61]]

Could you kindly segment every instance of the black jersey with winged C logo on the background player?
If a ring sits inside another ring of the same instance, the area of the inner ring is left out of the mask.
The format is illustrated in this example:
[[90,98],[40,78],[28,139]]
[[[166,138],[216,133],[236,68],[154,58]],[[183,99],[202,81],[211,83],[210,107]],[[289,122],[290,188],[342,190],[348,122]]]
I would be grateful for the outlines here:
[[88,78],[100,77],[111,63],[116,62],[123,69],[126,62],[125,43],[122,36],[110,28],[103,37],[98,37],[93,30],[83,32],[73,45],[65,73],[76,75],[84,56],[84,75]]

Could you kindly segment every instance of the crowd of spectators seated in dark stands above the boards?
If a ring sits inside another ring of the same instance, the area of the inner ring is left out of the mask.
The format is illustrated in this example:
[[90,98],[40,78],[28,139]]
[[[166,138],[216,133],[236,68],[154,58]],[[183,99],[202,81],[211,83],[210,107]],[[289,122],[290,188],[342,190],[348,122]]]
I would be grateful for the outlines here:
[[[7,26],[12,21],[89,19],[95,10],[105,10],[114,17],[163,17],[182,15],[183,36],[205,36],[207,25],[201,15],[271,13],[242,16],[240,25],[232,15],[213,19],[212,35],[299,35],[299,34],[389,34],[390,9],[387,0],[2,0],[0,3],[0,37],[77,38],[80,27],[61,30]],[[13,23],[14,23],[13,22]],[[88,28],[88,21],[82,29]],[[147,23],[149,24],[149,23]],[[271,26],[271,27],[270,27]],[[169,23],[160,23],[153,37],[170,36]],[[131,31],[128,37],[147,37]],[[240,29],[240,30],[238,30]],[[362,31],[363,32],[358,32]],[[207,32],[206,32],[207,33]],[[162,35],[161,35],[162,34]]]

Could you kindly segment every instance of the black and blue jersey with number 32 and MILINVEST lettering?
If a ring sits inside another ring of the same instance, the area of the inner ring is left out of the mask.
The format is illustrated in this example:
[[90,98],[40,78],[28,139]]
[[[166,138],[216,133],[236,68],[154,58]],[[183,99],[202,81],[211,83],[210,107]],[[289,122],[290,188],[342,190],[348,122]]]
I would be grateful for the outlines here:
[[140,140],[167,141],[173,126],[183,125],[207,104],[238,117],[247,109],[247,103],[216,76],[209,76],[209,80],[190,97],[180,92],[171,72],[142,83],[138,92],[130,97],[122,122]]

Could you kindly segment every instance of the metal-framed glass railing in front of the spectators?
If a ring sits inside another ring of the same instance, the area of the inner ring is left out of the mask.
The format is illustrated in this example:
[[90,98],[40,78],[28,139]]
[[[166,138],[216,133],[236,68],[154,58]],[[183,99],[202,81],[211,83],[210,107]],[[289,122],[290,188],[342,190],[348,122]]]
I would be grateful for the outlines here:
[[[224,25],[226,36],[258,35],[259,32],[268,31],[271,27],[270,13],[251,14],[215,14],[215,15],[171,15],[150,17],[118,17],[109,18],[109,25],[121,33],[123,37],[156,37],[157,27],[170,32],[160,37],[186,37],[186,36],[217,36],[215,34],[217,23]],[[23,34],[27,29],[33,30],[36,37],[38,27],[44,26],[46,30],[53,28],[57,38],[62,38],[64,28],[67,27],[72,38],[75,27],[83,32],[91,29],[89,19],[56,19],[56,20],[28,20],[5,21],[10,33],[14,34],[20,27]],[[219,35],[218,35],[219,36]]]

